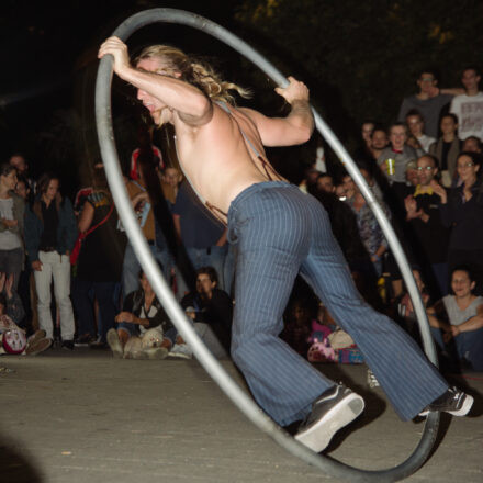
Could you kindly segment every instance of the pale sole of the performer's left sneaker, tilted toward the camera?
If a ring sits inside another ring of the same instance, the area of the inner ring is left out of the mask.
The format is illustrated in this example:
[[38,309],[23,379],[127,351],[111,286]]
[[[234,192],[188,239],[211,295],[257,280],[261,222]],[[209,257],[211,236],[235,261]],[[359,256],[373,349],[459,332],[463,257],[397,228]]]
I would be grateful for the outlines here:
[[315,452],[327,448],[333,436],[353,422],[363,411],[364,400],[356,393],[348,394],[310,428],[295,435],[295,439]]

